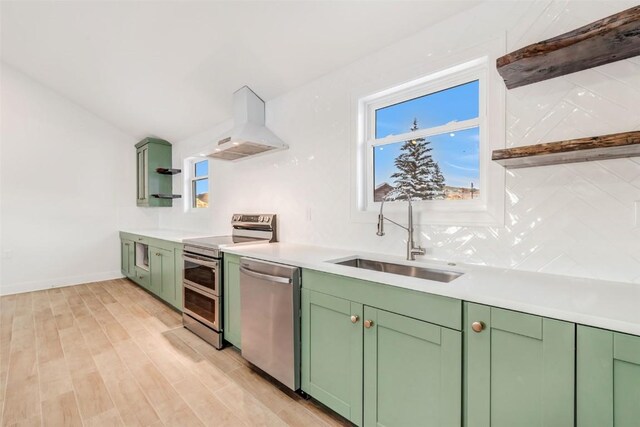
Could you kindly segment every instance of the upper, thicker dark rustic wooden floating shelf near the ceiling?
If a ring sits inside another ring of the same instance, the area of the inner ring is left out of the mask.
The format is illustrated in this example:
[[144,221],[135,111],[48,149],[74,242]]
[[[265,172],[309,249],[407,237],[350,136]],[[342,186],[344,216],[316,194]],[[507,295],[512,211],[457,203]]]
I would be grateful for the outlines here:
[[496,60],[507,88],[640,55],[640,6],[524,47]]

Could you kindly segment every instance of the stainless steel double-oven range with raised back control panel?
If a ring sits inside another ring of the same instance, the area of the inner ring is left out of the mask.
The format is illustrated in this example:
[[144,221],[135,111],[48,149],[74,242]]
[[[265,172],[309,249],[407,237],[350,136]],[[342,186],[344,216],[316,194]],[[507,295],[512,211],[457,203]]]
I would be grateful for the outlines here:
[[182,323],[209,344],[222,348],[222,252],[229,246],[276,241],[275,215],[234,214],[231,236],[184,241]]

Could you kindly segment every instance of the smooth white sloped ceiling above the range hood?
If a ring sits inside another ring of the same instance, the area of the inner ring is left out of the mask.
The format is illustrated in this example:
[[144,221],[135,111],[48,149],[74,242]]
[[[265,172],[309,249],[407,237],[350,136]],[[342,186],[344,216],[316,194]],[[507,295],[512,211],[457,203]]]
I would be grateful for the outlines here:
[[1,58],[137,138],[179,141],[473,1],[2,1]]

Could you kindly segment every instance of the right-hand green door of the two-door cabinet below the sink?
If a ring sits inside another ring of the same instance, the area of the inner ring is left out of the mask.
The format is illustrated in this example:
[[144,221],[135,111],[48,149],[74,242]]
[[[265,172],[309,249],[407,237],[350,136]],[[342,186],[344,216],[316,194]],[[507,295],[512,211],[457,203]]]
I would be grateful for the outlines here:
[[460,426],[462,334],[364,308],[364,425]]

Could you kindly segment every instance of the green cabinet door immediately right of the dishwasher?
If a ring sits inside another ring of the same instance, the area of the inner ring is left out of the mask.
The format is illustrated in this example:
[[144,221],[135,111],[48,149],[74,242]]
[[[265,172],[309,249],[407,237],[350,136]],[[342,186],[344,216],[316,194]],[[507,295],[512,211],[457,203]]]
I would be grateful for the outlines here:
[[302,290],[302,390],[356,425],[362,425],[362,315],[362,304]]

